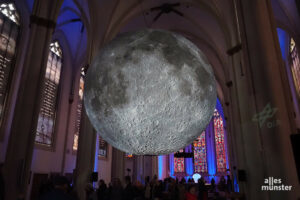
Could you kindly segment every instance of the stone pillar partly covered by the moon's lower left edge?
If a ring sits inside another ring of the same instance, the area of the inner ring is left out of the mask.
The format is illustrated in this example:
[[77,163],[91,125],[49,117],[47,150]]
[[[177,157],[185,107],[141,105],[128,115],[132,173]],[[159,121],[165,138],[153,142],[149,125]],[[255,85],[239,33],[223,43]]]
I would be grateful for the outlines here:
[[94,172],[97,137],[84,106],[82,111],[75,169],[75,190],[78,198],[85,200],[85,187],[91,182],[91,175]]

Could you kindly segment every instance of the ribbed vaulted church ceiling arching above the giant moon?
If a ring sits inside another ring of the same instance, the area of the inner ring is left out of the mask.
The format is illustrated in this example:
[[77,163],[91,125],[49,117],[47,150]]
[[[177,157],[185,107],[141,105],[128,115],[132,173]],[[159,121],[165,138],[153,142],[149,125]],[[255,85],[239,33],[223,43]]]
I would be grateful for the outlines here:
[[[32,9],[33,0],[26,0]],[[230,56],[226,51],[239,44],[236,0],[64,0],[56,32],[68,40],[72,58],[90,63],[101,46],[118,33],[142,28],[167,29],[193,41],[208,57],[220,85],[225,85]],[[176,11],[151,9],[177,4]],[[300,33],[295,0],[271,0],[277,26]],[[158,17],[156,19],[156,17]],[[154,20],[155,19],[155,20]]]

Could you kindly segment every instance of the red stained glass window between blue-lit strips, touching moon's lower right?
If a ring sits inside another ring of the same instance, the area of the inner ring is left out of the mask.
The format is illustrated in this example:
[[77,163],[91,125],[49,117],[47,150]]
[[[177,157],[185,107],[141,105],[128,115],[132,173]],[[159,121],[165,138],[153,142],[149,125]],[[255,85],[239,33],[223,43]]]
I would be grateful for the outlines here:
[[205,132],[194,141],[194,171],[195,173],[207,172]]

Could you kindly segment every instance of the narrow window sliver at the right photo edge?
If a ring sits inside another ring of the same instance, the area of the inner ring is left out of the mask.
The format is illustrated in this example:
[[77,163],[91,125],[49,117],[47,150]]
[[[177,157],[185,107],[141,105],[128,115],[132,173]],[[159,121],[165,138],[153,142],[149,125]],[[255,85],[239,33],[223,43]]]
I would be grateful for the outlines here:
[[296,43],[293,38],[290,42],[291,70],[295,83],[295,88],[300,96],[300,61]]

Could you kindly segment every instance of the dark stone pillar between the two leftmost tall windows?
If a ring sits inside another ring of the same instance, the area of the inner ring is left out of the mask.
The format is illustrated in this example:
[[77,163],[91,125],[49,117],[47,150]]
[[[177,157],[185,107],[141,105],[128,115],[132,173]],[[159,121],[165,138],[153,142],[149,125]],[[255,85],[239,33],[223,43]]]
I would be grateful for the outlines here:
[[62,0],[36,0],[4,164],[6,199],[26,196],[49,45]]

